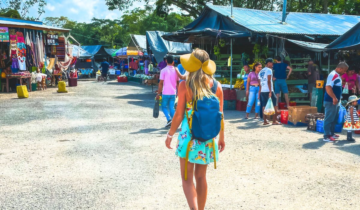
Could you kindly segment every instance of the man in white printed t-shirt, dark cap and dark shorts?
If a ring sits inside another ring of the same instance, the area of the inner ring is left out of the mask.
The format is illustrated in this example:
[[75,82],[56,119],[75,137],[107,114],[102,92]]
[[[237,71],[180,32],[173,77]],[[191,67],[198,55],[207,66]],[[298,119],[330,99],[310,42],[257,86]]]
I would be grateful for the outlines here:
[[[273,68],[273,65],[274,65],[274,59],[267,58],[265,60],[265,68],[263,68],[259,72],[259,76],[258,76],[259,84],[260,84],[259,97],[262,102],[262,106],[263,106],[262,112],[263,113],[265,110],[267,100],[269,100],[269,98],[271,98],[273,105],[274,105],[274,109],[275,109],[275,115],[273,115],[273,125],[282,125],[280,122],[278,122],[276,120],[276,111],[278,109],[278,101],[277,101],[276,95],[274,93],[274,86],[273,86],[273,70],[271,69],[271,68]],[[269,122],[267,122],[266,115],[263,115],[263,117],[264,117],[263,125],[268,125]]]

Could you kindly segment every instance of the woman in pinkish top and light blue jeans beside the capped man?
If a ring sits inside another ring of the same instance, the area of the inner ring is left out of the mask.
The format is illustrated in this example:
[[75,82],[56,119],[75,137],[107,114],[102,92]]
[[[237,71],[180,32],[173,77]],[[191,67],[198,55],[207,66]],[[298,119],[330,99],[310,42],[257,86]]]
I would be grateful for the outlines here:
[[260,112],[260,104],[258,103],[259,98],[259,82],[258,82],[258,73],[260,72],[262,66],[261,63],[255,63],[253,67],[253,71],[249,73],[246,84],[246,99],[248,101],[248,105],[246,107],[246,117],[245,119],[249,119],[249,113],[251,112],[251,108],[255,103],[255,119],[258,119],[258,114]]

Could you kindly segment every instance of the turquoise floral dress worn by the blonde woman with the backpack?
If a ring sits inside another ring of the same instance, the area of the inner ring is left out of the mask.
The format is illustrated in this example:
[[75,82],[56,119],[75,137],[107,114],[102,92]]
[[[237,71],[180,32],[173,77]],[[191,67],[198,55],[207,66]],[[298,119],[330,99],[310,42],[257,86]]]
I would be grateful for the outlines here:
[[[191,115],[192,112],[192,101],[186,102],[186,112],[188,115]],[[186,149],[188,147],[188,143],[191,140],[191,133],[189,129],[188,120],[185,117],[181,124],[179,138],[177,138],[176,152],[175,154],[183,159],[186,157]],[[213,147],[215,146],[215,155],[216,161],[218,159],[219,150],[217,147],[217,137],[214,139],[215,145],[213,144],[212,139],[201,142],[199,140],[191,140],[190,149],[189,149],[189,162],[196,164],[209,164],[210,162],[214,162],[213,155]]]

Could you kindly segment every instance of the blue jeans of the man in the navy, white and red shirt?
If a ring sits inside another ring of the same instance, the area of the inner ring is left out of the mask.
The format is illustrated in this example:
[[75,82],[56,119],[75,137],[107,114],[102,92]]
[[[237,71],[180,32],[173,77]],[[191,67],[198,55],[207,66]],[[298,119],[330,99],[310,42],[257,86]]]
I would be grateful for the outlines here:
[[324,101],[325,119],[324,119],[324,137],[335,134],[335,125],[339,117],[340,104]]

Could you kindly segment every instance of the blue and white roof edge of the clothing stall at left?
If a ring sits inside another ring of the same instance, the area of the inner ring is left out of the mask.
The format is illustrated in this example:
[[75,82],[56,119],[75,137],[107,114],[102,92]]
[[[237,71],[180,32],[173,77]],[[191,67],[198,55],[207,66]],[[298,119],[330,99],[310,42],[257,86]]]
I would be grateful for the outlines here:
[[[16,28],[30,28],[34,30],[45,30],[45,31],[57,31],[57,32],[69,32],[70,29],[66,28],[58,28],[54,26],[46,26],[42,24],[42,22],[31,23],[32,21],[21,21],[12,18],[1,18],[0,19],[0,26],[5,27],[16,27]],[[41,24],[39,24],[41,23]]]

